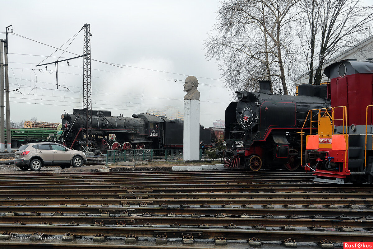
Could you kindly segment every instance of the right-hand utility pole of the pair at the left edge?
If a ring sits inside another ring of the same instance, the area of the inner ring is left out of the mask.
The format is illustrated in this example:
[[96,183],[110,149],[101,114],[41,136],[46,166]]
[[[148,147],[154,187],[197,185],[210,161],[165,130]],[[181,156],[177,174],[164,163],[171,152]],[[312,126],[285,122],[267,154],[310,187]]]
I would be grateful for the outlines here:
[[[5,101],[6,101],[6,150],[8,153],[12,152],[12,137],[10,136],[10,107],[9,107],[9,73],[8,73],[8,30],[9,25],[5,28],[6,40],[4,42],[4,66],[5,66]],[[12,29],[13,32],[13,29]]]

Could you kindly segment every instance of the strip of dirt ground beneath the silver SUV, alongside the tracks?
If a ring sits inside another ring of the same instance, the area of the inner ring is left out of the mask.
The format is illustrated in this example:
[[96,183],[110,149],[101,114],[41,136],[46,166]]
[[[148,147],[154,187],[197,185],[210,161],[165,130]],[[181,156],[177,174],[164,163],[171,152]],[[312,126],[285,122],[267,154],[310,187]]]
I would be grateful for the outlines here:
[[[11,160],[11,159],[7,159]],[[184,162],[184,161],[154,161],[148,162],[146,165],[136,165],[136,166],[118,166],[118,165],[108,165],[110,171],[168,171],[172,170],[172,166],[178,165],[206,165],[206,164],[220,164],[218,161],[200,161],[200,162]],[[100,172],[100,169],[106,167],[106,164],[100,165],[90,165],[86,164],[80,168],[66,168],[61,169],[59,166],[46,166],[40,169],[40,171],[23,171],[15,165],[12,166],[1,166],[0,165],[0,174],[38,174],[38,173],[60,173],[60,172]]]

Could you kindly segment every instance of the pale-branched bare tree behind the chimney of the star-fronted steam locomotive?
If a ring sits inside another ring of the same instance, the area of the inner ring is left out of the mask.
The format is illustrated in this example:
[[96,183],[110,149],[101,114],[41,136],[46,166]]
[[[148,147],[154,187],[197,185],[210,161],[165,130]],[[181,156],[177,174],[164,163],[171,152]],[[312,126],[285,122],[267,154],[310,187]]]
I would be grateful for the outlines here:
[[278,82],[284,94],[291,52],[291,12],[298,0],[229,0],[217,12],[217,34],[205,43],[231,88],[257,89],[257,80]]

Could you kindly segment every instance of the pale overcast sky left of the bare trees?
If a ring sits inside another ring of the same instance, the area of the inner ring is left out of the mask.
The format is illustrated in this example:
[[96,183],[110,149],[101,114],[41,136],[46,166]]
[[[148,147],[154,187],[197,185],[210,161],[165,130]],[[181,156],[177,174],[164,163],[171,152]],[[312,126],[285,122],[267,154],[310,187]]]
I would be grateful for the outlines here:
[[[224,87],[216,61],[206,59],[203,49],[216,24],[219,0],[12,0],[4,4],[7,11],[1,13],[0,38],[5,39],[5,27],[12,24],[9,84],[10,90],[20,88],[10,92],[13,121],[37,117],[38,121],[60,122],[65,111],[82,108],[82,59],[70,60],[69,66],[58,64],[58,89],[54,64],[47,70],[35,66],[76,56],[72,53],[82,55],[83,31],[79,30],[86,23],[93,34],[93,109],[109,110],[113,116],[131,116],[165,105],[182,111],[184,80],[194,75],[200,83],[201,124],[211,127],[213,121],[224,119],[232,95]],[[62,53],[38,42],[53,47],[67,42],[61,47],[64,50],[70,45]]]

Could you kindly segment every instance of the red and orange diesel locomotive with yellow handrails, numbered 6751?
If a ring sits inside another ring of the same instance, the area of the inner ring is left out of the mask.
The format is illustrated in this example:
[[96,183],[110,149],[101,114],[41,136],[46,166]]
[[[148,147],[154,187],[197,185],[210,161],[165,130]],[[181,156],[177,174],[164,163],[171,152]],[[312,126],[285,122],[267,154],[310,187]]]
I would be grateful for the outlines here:
[[305,137],[305,170],[319,182],[373,183],[373,61],[342,60],[324,74],[331,105],[312,111],[318,131]]

